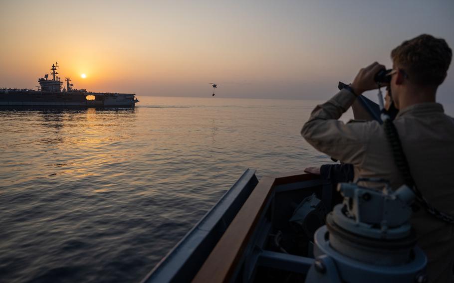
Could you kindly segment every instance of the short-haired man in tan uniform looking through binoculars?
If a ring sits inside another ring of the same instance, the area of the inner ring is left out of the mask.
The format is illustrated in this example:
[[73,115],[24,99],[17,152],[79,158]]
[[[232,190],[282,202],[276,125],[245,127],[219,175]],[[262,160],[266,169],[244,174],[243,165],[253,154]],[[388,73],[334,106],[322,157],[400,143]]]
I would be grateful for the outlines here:
[[[391,58],[390,88],[399,109],[393,123],[412,180],[427,203],[447,217],[454,216],[454,119],[436,103],[452,50],[444,39],[422,34],[396,47]],[[385,178],[399,188],[408,179],[397,166],[384,127],[376,121],[338,121],[357,96],[378,88],[374,76],[383,68],[375,62],[361,69],[351,85],[312,111],[301,135],[316,149],[353,164],[355,179]],[[421,208],[414,212],[412,225],[418,245],[428,256],[429,281],[454,282],[454,224],[434,214],[434,210]]]

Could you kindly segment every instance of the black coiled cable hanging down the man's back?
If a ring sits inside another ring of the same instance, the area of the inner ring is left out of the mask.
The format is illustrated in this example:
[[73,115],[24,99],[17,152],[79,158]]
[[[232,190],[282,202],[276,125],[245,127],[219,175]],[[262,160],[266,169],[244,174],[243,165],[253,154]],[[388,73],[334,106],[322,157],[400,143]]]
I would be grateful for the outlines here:
[[429,214],[437,217],[444,222],[454,224],[454,218],[430,205],[416,186],[412,174],[410,173],[410,166],[408,165],[407,157],[405,156],[404,149],[402,148],[399,133],[397,132],[396,126],[394,125],[393,121],[391,121],[391,119],[385,119],[383,121],[383,128],[393,152],[394,162],[403,175],[405,184],[410,187],[415,193],[418,203],[422,207],[424,207]]

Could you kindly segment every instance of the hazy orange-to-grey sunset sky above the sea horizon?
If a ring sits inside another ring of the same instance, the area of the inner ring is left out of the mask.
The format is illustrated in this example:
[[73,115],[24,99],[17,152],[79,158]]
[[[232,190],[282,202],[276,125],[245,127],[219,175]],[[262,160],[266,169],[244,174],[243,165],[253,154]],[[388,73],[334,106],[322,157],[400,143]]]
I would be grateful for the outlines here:
[[[60,76],[140,96],[327,99],[403,40],[454,48],[454,1],[0,0],[0,87]],[[81,75],[85,74],[86,78]],[[439,89],[454,103],[454,71]]]

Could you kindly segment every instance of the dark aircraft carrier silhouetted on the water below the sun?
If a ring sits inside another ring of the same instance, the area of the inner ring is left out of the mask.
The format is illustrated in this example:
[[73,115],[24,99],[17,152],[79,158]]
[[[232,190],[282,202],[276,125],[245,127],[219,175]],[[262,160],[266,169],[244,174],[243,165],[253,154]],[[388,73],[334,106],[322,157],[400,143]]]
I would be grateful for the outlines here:
[[139,102],[132,93],[101,93],[75,89],[70,78],[65,78],[66,87],[61,89],[57,62],[49,74],[39,78],[37,90],[0,88],[0,106],[134,106]]

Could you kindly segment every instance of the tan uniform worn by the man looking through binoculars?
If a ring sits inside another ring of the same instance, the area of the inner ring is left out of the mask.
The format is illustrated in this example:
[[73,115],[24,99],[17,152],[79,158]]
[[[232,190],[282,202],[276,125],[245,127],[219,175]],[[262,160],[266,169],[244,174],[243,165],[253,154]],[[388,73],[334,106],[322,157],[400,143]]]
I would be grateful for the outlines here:
[[[339,117],[356,96],[341,90],[318,105],[301,130],[316,149],[350,163],[355,179],[380,177],[395,189],[403,184],[383,127],[377,121],[344,124]],[[394,120],[412,176],[427,201],[454,215],[454,119],[438,103],[422,103],[402,109]],[[370,185],[370,184],[369,184]],[[412,225],[418,245],[428,256],[430,282],[454,282],[454,225],[429,215],[414,213]]]

